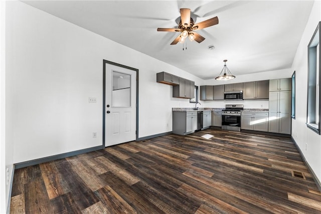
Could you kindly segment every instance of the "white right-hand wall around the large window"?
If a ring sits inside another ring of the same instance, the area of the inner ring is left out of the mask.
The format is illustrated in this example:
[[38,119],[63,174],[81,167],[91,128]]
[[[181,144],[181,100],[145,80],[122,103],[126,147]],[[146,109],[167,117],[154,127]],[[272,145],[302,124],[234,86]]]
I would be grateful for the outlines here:
[[305,122],[307,45],[320,21],[321,4],[320,1],[315,1],[292,64],[292,71],[295,71],[295,119],[292,119],[292,137],[319,181],[321,181],[321,136],[307,128]]

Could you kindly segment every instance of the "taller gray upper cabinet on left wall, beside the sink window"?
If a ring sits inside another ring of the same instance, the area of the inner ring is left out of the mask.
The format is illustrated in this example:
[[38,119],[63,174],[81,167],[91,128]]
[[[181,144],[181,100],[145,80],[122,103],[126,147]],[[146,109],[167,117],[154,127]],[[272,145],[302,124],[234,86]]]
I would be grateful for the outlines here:
[[[180,85],[173,86],[173,97],[194,98],[194,87],[194,81],[180,77]],[[192,91],[193,93],[191,93]]]

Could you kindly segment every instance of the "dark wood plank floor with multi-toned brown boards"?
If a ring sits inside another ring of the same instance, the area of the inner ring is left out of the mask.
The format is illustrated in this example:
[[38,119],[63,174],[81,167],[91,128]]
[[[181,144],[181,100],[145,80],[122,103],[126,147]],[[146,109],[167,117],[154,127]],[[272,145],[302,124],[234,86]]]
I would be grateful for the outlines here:
[[207,129],[17,169],[10,213],[321,213],[321,193],[290,138]]

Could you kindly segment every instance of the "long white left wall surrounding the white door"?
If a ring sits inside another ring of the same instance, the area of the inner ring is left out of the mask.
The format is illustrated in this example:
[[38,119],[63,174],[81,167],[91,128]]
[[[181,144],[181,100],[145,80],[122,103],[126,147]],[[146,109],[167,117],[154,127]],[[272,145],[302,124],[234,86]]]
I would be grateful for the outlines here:
[[139,69],[138,137],[172,131],[172,107],[193,107],[156,73],[203,80],[24,3],[7,6],[14,163],[102,144],[103,59]]

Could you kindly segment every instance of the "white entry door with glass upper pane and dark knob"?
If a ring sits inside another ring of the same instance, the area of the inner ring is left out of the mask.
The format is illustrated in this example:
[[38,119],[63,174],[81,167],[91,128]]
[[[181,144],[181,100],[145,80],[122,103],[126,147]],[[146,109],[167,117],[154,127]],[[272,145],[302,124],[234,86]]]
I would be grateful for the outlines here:
[[105,146],[136,139],[136,71],[106,63]]

